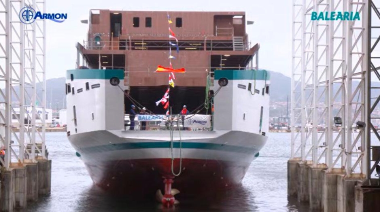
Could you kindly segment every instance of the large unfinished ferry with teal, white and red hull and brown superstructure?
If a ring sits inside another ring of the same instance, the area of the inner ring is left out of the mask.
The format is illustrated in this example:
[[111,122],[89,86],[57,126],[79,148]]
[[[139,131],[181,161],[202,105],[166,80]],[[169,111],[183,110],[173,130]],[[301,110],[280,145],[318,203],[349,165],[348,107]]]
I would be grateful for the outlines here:
[[269,128],[270,74],[246,22],[239,11],[90,10],[65,90],[67,138],[94,184],[171,207],[179,192],[241,183]]

